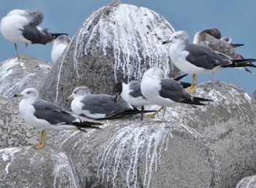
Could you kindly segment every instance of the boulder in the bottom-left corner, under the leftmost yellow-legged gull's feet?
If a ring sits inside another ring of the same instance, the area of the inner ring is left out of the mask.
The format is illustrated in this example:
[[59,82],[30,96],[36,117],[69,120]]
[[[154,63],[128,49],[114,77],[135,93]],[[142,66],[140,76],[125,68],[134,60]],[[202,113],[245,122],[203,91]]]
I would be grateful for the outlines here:
[[0,187],[78,187],[63,152],[31,147],[0,149]]

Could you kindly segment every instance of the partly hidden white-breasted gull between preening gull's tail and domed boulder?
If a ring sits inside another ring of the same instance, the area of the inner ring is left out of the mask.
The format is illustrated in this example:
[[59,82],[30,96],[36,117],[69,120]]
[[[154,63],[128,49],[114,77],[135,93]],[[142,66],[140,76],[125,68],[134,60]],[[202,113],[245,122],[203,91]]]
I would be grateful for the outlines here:
[[60,35],[53,40],[53,48],[51,50],[51,60],[53,63],[56,63],[59,57],[63,54],[70,40],[69,36],[65,34]]

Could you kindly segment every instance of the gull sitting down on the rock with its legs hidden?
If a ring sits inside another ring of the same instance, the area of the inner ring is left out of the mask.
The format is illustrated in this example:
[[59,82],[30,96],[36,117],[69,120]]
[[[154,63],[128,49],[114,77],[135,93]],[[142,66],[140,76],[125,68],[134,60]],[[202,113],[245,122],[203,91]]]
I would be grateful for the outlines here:
[[106,94],[92,95],[89,88],[85,86],[76,87],[72,95],[67,97],[67,100],[72,100],[71,109],[75,114],[96,120],[113,119],[127,114],[140,113],[138,109],[133,108],[122,98],[118,98],[115,103],[114,96]]

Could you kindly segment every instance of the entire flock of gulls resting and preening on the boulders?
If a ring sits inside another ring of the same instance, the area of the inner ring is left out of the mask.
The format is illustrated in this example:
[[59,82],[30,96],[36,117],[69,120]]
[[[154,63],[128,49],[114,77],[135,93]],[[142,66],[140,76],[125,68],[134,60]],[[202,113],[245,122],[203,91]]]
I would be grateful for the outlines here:
[[[14,9],[1,19],[0,31],[5,39],[15,44],[18,58],[22,58],[18,55],[17,44],[20,42],[26,44],[25,59],[28,57],[28,44],[53,42],[51,58],[53,63],[58,63],[71,39],[65,33],[50,33],[40,28],[42,20],[43,14],[38,9]],[[173,79],[165,76],[161,68],[151,67],[144,72],[141,80],[117,82],[113,86],[115,95],[91,94],[86,86],[76,87],[67,97],[67,101],[72,101],[72,111],[42,100],[35,88],[29,87],[15,94],[15,97],[22,97],[19,111],[23,119],[29,125],[42,129],[39,144],[34,148],[42,149],[45,146],[45,130],[75,129],[86,132],[87,128],[100,129],[102,122],[92,122],[86,118],[99,121],[140,114],[140,120],[143,120],[144,113],[157,113],[144,109],[144,106],[152,104],[164,108],[162,121],[165,121],[166,107],[174,103],[206,106],[208,102],[213,102],[210,98],[192,95],[196,90],[197,74],[213,73],[223,68],[241,68],[250,72],[248,67],[256,67],[252,63],[256,59],[244,58],[236,52],[236,47],[243,44],[233,44],[229,37],[222,38],[217,28],[197,32],[193,43],[189,43],[185,31],[176,31],[162,44],[170,44],[170,60],[186,74]],[[191,84],[180,81],[187,74],[193,74]]]

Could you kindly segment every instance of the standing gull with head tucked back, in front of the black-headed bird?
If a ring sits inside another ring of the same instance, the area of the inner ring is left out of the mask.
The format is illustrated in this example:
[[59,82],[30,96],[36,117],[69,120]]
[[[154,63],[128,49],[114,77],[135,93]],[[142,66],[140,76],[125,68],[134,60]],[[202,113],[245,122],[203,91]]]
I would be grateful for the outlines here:
[[206,105],[201,101],[212,101],[206,98],[193,97],[174,79],[164,77],[161,68],[149,68],[143,74],[141,80],[141,93],[148,101],[159,106],[165,106],[162,121],[165,117],[166,106],[176,103],[188,103],[192,105]]

